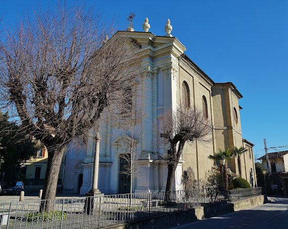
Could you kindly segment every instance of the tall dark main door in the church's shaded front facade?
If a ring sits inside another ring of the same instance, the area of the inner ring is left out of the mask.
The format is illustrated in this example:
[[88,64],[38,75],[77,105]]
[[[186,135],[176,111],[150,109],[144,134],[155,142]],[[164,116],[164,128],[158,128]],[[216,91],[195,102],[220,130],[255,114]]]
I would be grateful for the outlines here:
[[127,170],[128,162],[120,157],[119,163],[119,194],[130,193],[131,177],[128,174],[123,174]]

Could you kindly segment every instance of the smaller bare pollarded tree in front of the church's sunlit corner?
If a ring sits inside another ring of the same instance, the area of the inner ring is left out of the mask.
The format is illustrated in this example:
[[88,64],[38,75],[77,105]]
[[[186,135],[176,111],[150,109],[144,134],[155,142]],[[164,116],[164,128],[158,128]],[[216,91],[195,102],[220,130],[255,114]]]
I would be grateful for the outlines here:
[[[177,111],[166,111],[159,127],[159,136],[164,145],[168,145],[167,154],[160,157],[168,166],[166,191],[173,189],[175,171],[186,141],[209,141],[212,131],[210,121],[203,116],[199,108],[180,106]],[[166,146],[167,147],[167,146]]]

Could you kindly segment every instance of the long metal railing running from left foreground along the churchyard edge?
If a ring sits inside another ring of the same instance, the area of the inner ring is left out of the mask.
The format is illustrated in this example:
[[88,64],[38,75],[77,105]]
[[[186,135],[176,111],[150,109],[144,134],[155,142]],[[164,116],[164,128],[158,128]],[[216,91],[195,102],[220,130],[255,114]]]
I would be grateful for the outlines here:
[[243,195],[242,190],[233,190],[237,192],[230,195],[215,188],[201,188],[188,192],[177,190],[2,203],[0,229],[101,228],[228,200],[230,197],[240,199],[257,194],[249,192]]

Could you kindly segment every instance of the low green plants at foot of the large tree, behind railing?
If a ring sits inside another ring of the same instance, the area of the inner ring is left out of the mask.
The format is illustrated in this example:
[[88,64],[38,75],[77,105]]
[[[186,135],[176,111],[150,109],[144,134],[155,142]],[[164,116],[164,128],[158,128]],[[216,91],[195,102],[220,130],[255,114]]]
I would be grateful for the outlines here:
[[50,211],[50,212],[30,212],[29,214],[25,215],[25,219],[27,218],[27,221],[32,220],[43,220],[43,221],[49,221],[49,220],[61,220],[63,214],[63,219],[66,219],[67,213],[62,211]]

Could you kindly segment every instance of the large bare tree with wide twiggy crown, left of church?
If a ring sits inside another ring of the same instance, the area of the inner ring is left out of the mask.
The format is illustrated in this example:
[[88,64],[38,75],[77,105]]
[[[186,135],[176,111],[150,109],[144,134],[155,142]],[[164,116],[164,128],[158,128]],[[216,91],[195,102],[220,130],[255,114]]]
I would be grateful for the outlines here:
[[139,47],[113,31],[92,9],[65,4],[6,29],[0,49],[2,108],[49,152],[42,199],[56,196],[68,143],[85,141],[102,113],[125,109],[126,90],[140,82]]

